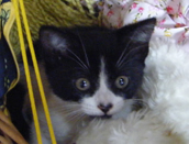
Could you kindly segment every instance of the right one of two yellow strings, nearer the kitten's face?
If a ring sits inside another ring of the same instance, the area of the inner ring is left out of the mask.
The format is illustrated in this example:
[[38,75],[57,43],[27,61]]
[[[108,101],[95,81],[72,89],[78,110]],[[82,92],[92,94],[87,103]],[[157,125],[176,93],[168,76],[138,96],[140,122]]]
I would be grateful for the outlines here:
[[29,29],[29,23],[27,23],[27,18],[26,18],[23,0],[20,0],[20,8],[21,8],[23,23],[24,23],[24,27],[25,27],[25,32],[26,32],[27,42],[29,42],[29,48],[31,52],[34,70],[36,74],[36,80],[37,80],[37,85],[38,85],[38,89],[40,89],[40,95],[42,98],[42,103],[44,107],[44,112],[45,112],[45,117],[46,117],[46,121],[47,121],[47,125],[48,125],[48,130],[49,130],[49,135],[52,139],[52,144],[56,144],[56,139],[55,139],[55,134],[54,134],[54,130],[53,130],[53,125],[52,125],[52,121],[51,121],[51,115],[49,115],[48,106],[47,106],[45,93],[44,93],[44,88],[43,88],[40,70],[38,70],[38,65],[37,65],[35,52],[34,52],[34,46],[32,43],[32,36],[30,33],[30,29]]

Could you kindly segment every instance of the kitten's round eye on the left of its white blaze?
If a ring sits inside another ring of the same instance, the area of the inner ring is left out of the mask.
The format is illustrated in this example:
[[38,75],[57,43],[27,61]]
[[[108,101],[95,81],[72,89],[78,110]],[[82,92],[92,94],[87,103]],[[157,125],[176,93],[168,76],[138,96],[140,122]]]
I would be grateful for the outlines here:
[[77,81],[76,81],[76,87],[79,89],[79,90],[88,90],[90,88],[90,82],[88,79],[86,78],[79,78]]

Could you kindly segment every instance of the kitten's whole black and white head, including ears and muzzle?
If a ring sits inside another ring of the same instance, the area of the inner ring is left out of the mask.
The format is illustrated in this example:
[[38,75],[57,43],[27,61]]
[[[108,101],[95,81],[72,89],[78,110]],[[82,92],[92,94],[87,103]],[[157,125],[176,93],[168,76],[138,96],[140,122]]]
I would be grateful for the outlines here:
[[120,112],[142,82],[155,22],[149,19],[120,30],[43,26],[40,44],[54,93],[78,102],[88,115]]

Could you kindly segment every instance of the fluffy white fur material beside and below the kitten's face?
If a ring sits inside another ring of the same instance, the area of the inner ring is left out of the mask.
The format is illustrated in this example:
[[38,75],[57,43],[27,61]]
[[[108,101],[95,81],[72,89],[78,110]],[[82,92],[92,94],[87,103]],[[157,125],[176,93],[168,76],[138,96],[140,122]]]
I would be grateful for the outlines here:
[[189,54],[152,40],[140,95],[146,108],[126,119],[92,121],[77,144],[188,144]]

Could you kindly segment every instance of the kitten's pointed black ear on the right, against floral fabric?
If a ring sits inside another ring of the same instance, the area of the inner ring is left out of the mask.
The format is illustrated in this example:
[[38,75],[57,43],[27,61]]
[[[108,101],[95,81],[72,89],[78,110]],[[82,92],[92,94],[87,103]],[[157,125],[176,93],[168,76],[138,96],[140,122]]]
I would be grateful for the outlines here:
[[116,31],[122,57],[132,58],[144,64],[148,54],[148,44],[156,24],[156,19],[147,19],[126,25]]

